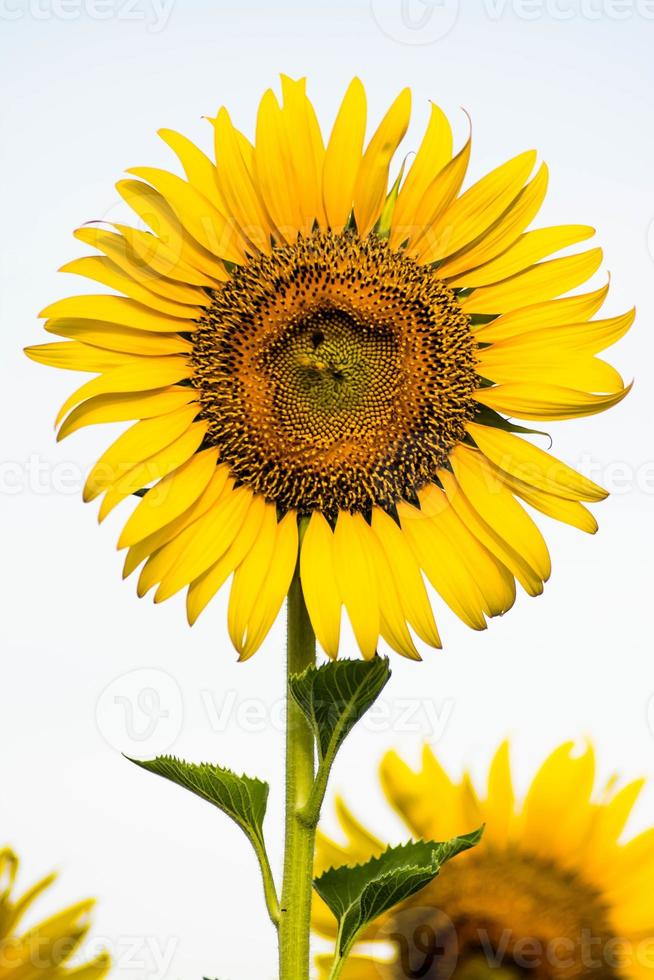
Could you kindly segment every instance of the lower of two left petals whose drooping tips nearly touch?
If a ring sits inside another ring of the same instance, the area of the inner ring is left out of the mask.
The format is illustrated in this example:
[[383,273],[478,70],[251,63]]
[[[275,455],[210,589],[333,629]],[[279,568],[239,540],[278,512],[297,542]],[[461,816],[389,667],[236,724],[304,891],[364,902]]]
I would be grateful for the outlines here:
[[73,409],[59,429],[57,440],[65,439],[72,432],[87,425],[105,422],[128,422],[132,419],[154,418],[195,401],[193,388],[159,388],[156,391],[138,391],[117,395],[96,395]]

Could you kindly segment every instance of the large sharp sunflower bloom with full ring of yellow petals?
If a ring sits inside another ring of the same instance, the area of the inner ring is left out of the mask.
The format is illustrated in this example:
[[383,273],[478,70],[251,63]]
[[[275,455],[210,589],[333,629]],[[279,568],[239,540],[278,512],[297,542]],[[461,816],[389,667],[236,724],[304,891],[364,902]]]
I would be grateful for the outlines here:
[[[410,166],[390,175],[411,112],[404,90],[365,142],[355,79],[323,141],[304,80],[261,100],[251,143],[222,108],[215,160],[161,137],[184,177],[137,167],[117,187],[149,230],[85,225],[99,254],[63,271],[110,294],[41,314],[65,340],[45,364],[96,375],[63,405],[59,438],[135,420],[89,474],[100,519],[137,494],[119,539],[125,575],[156,602],[185,588],[193,623],[233,575],[228,625],[260,646],[296,563],[334,657],[344,606],[365,657],[382,637],[439,647],[425,577],[473,629],[537,595],[550,574],[523,507],[584,531],[605,491],[507,421],[579,418],[617,404],[596,355],[633,312],[592,319],[604,285],[586,225],[526,231],[545,196],[536,153],[461,190],[432,105]],[[405,160],[406,163],[406,160]],[[560,298],[562,294],[572,295]]]

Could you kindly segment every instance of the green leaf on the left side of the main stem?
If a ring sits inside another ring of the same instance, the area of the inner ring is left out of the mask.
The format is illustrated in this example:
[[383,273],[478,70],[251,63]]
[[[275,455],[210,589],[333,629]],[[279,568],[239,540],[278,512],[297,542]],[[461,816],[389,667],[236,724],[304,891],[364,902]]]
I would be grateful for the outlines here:
[[185,762],[170,755],[149,761],[130,759],[130,762],[213,803],[238,824],[256,847],[263,847],[268,783],[250,776],[237,776],[230,769],[208,762]]

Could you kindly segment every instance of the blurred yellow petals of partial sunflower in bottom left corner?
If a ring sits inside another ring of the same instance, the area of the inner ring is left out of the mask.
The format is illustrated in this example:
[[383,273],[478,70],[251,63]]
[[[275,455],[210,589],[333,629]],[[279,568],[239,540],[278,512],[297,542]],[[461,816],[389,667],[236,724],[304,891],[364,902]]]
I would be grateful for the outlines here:
[[79,950],[90,927],[93,901],[71,905],[56,915],[17,932],[33,903],[50,887],[55,875],[32,885],[20,898],[12,892],[18,872],[18,858],[12,850],[0,849],[0,977],[2,980],[99,980],[110,970],[107,953],[82,966],[68,965]]

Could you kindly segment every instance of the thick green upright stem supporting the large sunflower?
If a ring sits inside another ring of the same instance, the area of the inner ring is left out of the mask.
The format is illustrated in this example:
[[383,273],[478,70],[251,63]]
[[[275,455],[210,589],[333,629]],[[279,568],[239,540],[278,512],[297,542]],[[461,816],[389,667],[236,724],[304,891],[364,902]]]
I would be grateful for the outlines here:
[[[316,638],[296,568],[288,593],[287,675],[300,674],[316,659]],[[280,980],[308,980],[315,827],[300,819],[313,788],[314,738],[287,690],[286,846],[279,923]]]

